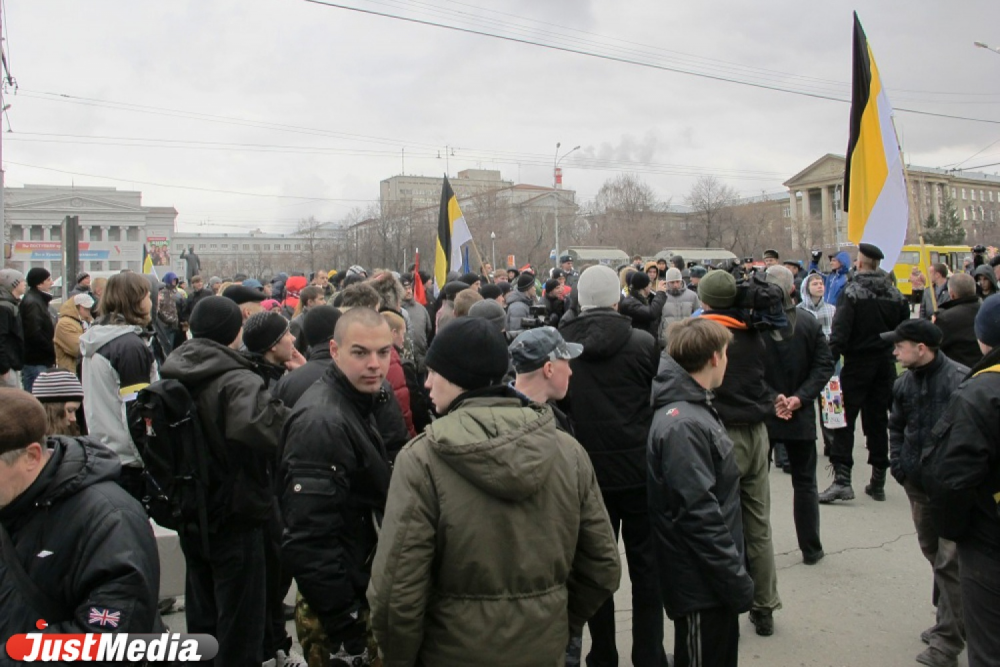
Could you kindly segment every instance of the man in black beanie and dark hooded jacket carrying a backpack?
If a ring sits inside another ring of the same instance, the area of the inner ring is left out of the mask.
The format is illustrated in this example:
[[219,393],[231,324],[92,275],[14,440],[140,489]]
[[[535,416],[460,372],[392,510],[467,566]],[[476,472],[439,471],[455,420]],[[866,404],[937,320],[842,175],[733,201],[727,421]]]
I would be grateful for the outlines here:
[[191,313],[194,336],[160,369],[185,384],[209,448],[208,553],[202,535],[182,533],[189,632],[219,641],[216,667],[259,665],[265,619],[264,524],[273,511],[271,474],[287,409],[237,350],[243,316],[210,296]]

